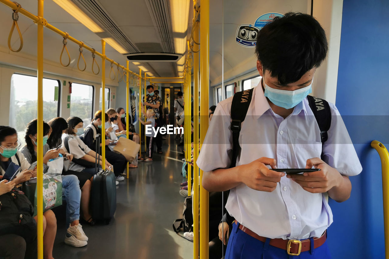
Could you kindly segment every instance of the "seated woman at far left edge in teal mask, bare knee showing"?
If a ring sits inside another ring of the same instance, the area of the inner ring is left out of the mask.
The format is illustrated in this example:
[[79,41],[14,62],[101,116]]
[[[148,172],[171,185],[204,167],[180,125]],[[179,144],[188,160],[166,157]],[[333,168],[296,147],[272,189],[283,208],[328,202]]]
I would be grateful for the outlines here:
[[[15,186],[30,180],[32,177],[37,177],[36,167],[33,170],[28,170],[30,163],[23,153],[18,151],[18,147],[20,144],[16,130],[9,126],[0,126],[0,175],[4,175],[11,161],[19,165],[22,171],[13,180]],[[34,219],[37,221],[37,216]],[[47,210],[43,213],[43,256],[45,259],[53,259],[56,232],[57,219],[52,210]]]

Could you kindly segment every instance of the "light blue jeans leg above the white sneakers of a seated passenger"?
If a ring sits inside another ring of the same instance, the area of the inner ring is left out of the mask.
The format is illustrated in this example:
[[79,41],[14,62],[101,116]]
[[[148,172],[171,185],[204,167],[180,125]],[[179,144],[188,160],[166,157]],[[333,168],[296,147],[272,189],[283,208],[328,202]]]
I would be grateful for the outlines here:
[[80,219],[81,189],[75,175],[62,175],[62,200],[66,201],[66,224]]

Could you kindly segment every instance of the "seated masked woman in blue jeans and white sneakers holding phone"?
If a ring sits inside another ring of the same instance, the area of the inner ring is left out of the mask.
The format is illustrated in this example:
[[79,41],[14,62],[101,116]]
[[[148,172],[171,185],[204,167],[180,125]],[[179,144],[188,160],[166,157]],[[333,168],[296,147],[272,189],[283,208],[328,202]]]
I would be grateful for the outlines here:
[[[28,163],[37,161],[37,119],[30,121],[26,128],[26,145],[21,149]],[[43,122],[43,172],[46,173],[50,159],[58,158],[60,150],[49,149],[47,139],[51,128]],[[62,168],[61,168],[62,169]],[[60,172],[62,173],[62,171]],[[82,230],[80,219],[81,190],[79,181],[75,175],[62,175],[63,200],[66,200],[66,223],[69,225],[65,235],[65,244],[74,247],[83,247],[88,244],[88,237]]]

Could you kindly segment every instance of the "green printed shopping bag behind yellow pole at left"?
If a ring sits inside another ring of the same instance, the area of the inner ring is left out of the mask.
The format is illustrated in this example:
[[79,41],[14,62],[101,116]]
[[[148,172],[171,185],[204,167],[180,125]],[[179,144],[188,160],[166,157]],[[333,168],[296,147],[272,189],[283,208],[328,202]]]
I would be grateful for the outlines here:
[[[22,191],[34,206],[37,215],[37,179],[23,183]],[[62,178],[58,173],[43,175],[43,212],[62,205]]]

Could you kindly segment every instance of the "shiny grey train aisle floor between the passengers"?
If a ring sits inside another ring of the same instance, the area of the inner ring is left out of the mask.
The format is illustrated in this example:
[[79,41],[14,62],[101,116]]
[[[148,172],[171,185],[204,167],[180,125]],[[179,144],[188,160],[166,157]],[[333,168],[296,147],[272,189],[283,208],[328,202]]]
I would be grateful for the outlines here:
[[179,194],[184,180],[180,174],[182,147],[177,147],[173,135],[164,142],[162,155],[154,150],[153,162],[140,162],[138,168],[130,169],[129,179],[119,182],[116,213],[110,224],[82,224],[89,238],[87,246],[66,245],[67,226],[58,220],[55,259],[193,257],[193,243],[172,228],[173,221],[182,217],[184,203]]

